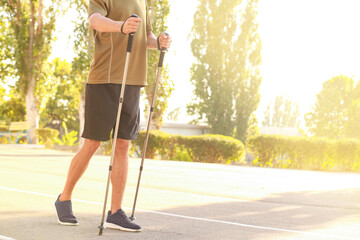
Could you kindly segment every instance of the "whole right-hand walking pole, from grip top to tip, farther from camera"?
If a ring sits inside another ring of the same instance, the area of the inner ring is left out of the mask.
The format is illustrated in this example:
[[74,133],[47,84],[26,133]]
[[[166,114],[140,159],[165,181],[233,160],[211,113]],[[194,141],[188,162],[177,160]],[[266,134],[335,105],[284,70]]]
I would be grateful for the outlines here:
[[[169,35],[166,32],[165,32],[165,34]],[[165,57],[166,52],[167,52],[167,49],[165,49],[165,48],[162,48],[161,52],[160,52],[160,59],[159,59],[159,65],[158,65],[158,70],[157,70],[157,75],[156,75],[154,94],[153,94],[153,97],[152,97],[152,100],[151,100],[150,114],[148,116],[148,124],[147,124],[147,130],[146,130],[145,143],[144,143],[143,152],[142,152],[142,158],[141,158],[139,178],[138,178],[138,183],[137,183],[137,186],[136,186],[136,193],[135,193],[135,199],[134,199],[134,205],[133,205],[133,209],[132,209],[132,214],[130,216],[131,221],[135,220],[135,217],[134,217],[134,215],[135,215],[135,207],[136,207],[137,196],[138,196],[138,193],[139,193],[141,173],[142,173],[142,170],[144,168],[144,160],[145,160],[147,143],[148,143],[148,140],[149,140],[151,118],[152,118],[152,114],[154,112],[154,107],[155,107],[156,90],[157,90],[157,85],[158,85],[159,80],[160,80],[161,70],[162,70],[162,67],[163,67],[163,62],[164,62],[164,57]]]

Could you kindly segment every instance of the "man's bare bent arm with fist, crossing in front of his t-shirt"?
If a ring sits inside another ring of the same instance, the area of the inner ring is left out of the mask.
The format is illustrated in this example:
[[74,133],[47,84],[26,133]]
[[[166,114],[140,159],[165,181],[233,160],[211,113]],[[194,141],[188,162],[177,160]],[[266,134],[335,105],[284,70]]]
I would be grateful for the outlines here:
[[[110,18],[102,16],[100,13],[93,13],[89,17],[90,27],[99,32],[121,32],[121,26],[124,24],[122,21],[113,21]],[[136,32],[140,18],[129,18],[126,20],[123,31],[125,34]]]

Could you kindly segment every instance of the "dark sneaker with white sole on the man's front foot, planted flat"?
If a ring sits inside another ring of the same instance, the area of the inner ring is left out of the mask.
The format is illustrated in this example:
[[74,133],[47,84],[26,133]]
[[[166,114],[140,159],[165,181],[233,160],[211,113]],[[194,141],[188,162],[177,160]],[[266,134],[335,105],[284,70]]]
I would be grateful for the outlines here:
[[106,228],[118,229],[129,232],[140,232],[141,227],[132,222],[122,209],[117,210],[116,213],[111,215],[111,211],[108,212],[106,222],[104,224]]

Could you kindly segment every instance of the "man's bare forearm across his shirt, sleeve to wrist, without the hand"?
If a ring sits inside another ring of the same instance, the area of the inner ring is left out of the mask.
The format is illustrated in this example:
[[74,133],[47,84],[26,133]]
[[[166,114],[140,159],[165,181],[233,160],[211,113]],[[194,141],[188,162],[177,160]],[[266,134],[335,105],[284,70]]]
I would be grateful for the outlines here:
[[90,27],[99,32],[120,32],[124,22],[113,21],[102,16],[100,13],[91,14],[89,17]]

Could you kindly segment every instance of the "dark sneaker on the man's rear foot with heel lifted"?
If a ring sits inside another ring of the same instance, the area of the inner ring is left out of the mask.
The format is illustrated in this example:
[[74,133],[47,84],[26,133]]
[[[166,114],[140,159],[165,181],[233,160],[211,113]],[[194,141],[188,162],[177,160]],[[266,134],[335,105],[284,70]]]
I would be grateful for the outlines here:
[[79,225],[76,217],[74,216],[74,214],[72,212],[71,200],[60,201],[59,200],[60,196],[61,196],[61,194],[58,196],[58,198],[54,204],[58,222],[61,225],[67,225],[67,226]]

